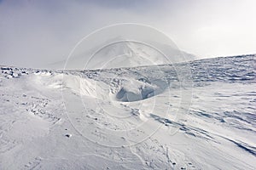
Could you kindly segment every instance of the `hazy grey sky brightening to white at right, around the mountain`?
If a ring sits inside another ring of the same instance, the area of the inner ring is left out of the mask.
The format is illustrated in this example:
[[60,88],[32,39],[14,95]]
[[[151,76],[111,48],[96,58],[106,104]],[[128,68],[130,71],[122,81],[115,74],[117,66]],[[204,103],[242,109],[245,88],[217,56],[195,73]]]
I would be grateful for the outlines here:
[[199,58],[256,53],[255,0],[0,0],[0,65],[66,59],[91,31],[139,23]]

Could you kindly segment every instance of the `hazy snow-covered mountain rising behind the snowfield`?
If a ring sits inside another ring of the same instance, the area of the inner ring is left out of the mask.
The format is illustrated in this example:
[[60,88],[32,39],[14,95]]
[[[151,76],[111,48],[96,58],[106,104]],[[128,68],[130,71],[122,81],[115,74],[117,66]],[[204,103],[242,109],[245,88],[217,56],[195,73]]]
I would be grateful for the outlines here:
[[54,69],[88,70],[143,65],[163,65],[195,59],[195,55],[160,42],[137,42],[116,37],[93,48],[78,48],[70,58],[51,65]]

